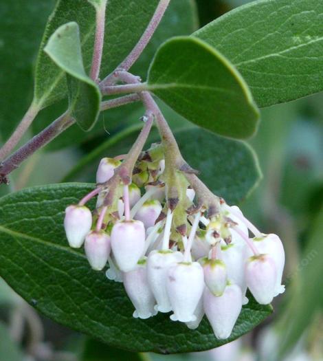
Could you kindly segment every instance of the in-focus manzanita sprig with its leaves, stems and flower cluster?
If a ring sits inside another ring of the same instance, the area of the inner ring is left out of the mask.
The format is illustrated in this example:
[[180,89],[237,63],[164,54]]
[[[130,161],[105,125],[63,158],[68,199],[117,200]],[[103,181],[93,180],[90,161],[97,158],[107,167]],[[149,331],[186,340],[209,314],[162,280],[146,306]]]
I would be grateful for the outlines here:
[[[58,135],[85,139],[75,123],[97,133],[102,112],[118,124],[109,109],[144,106],[139,125],[115,135],[122,144],[142,127],[137,139],[106,154],[96,184],[0,199],[5,281],[49,318],[129,351],[218,347],[265,320],[285,290],[284,240],[236,206],[260,178],[241,139],[256,131],[258,107],[323,89],[323,3],[254,1],[199,30],[194,10],[189,0],[58,0],[34,98],[0,150],[6,184]],[[38,113],[64,99],[67,109],[12,153]]]

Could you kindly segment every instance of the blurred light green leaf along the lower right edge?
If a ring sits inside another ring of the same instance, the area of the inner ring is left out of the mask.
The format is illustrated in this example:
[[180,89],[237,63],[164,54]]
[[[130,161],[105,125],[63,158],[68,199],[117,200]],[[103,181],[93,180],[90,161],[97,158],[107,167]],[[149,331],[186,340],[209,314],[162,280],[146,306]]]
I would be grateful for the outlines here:
[[[323,205],[311,228],[309,243],[298,264],[299,284],[291,289],[287,318],[284,318],[284,332],[280,339],[280,356],[285,354],[304,333],[313,320],[315,312],[323,304],[323,290],[320,287],[323,274]],[[295,274],[297,275],[297,274]],[[294,275],[294,276],[295,276]]]

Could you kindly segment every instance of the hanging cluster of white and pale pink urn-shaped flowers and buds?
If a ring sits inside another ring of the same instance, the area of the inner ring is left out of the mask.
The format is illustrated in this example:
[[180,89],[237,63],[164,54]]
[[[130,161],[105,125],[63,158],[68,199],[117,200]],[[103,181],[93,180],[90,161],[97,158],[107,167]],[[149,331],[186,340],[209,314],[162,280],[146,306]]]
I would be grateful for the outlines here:
[[[223,199],[210,212],[185,173],[168,182],[157,144],[137,160],[129,184],[111,186],[120,158],[101,160],[97,188],[67,207],[65,231],[71,247],[84,243],[93,270],[109,263],[107,277],[123,282],[133,317],[172,311],[171,320],[195,329],[205,315],[215,336],[225,339],[248,302],[247,288],[263,305],[284,292],[285,254],[276,234],[260,233]],[[92,215],[85,203],[96,195]]]

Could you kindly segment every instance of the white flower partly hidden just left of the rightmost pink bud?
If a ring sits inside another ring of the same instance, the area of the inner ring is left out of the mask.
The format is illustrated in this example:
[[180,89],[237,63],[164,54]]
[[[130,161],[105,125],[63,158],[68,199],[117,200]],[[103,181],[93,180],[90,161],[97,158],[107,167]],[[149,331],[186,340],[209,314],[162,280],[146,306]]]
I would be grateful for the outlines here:
[[[224,243],[224,242],[223,242]],[[247,245],[235,242],[222,245],[219,258],[227,267],[227,279],[241,288],[243,294],[243,305],[248,303],[245,293],[247,292],[247,282],[245,281],[245,260],[247,259]]]

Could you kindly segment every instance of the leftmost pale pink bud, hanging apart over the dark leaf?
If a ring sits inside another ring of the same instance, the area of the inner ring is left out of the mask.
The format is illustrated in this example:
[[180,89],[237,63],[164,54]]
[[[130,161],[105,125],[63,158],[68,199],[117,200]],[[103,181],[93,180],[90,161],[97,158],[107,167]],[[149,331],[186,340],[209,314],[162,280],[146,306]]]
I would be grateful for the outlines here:
[[64,227],[67,241],[73,248],[80,248],[92,226],[92,215],[85,206],[68,206],[65,209]]

